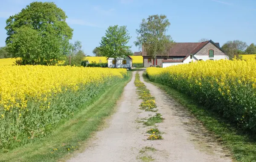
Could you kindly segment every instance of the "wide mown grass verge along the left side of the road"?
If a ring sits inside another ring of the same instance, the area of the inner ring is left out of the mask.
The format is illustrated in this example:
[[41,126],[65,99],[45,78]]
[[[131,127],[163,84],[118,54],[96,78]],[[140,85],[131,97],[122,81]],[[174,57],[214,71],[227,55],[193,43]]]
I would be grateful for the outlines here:
[[128,76],[95,97],[91,105],[81,105],[81,110],[72,119],[63,120],[48,136],[0,153],[0,162],[56,162],[73,151],[82,150],[91,134],[113,113],[124,86],[131,80],[131,72]]

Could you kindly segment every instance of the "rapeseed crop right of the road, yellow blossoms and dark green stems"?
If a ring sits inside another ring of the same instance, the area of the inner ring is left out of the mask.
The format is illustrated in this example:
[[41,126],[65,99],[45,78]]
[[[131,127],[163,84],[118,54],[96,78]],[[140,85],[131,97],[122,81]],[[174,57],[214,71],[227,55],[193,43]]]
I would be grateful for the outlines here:
[[256,60],[199,61],[147,68],[149,79],[178,89],[256,132]]

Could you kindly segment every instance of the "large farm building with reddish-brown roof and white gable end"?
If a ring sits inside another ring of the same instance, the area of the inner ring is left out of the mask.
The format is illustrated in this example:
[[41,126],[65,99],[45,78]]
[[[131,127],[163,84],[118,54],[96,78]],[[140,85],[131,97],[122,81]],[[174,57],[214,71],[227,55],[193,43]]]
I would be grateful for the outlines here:
[[[154,60],[147,56],[145,49],[142,49],[142,56],[144,67],[154,65]],[[167,54],[157,55],[156,65],[164,68],[197,60],[220,59],[229,59],[229,57],[221,49],[219,43],[214,43],[212,40],[201,43],[175,43]]]

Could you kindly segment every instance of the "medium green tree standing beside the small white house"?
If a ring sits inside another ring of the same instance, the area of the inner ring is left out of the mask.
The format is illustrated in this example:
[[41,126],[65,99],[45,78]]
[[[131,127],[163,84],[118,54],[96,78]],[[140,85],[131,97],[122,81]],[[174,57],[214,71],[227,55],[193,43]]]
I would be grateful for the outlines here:
[[[127,43],[130,36],[126,26],[110,26],[106,30],[105,37],[102,37],[100,42],[99,51],[102,56],[114,58],[125,57],[129,55],[129,48]],[[116,64],[114,64],[116,68]]]

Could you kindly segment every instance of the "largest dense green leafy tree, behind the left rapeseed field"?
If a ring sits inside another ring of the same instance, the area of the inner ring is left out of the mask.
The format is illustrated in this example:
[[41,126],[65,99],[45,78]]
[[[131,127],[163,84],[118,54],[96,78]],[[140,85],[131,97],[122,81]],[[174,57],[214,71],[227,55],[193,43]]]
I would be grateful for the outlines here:
[[6,20],[8,51],[20,57],[21,64],[55,65],[64,60],[73,36],[66,18],[54,3],[30,3]]

